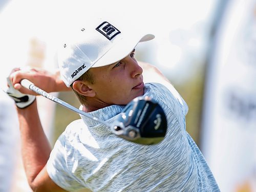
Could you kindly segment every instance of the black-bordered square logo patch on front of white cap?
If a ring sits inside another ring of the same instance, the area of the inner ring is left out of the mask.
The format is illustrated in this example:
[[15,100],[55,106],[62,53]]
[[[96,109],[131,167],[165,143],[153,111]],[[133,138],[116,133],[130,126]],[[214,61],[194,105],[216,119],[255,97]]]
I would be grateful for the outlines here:
[[121,33],[117,28],[115,28],[113,25],[111,25],[108,22],[103,22],[96,28],[96,30],[101,34],[103,34],[109,40],[111,40],[114,36]]

